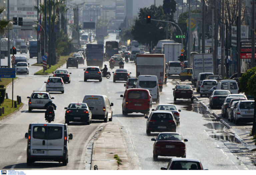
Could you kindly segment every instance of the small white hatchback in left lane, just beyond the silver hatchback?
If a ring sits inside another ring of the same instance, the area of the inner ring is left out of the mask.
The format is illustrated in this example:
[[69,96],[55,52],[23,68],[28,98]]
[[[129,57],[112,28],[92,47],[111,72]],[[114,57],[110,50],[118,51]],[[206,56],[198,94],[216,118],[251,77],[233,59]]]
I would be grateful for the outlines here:
[[46,92],[49,91],[60,91],[64,93],[64,82],[61,77],[49,77],[46,83]]

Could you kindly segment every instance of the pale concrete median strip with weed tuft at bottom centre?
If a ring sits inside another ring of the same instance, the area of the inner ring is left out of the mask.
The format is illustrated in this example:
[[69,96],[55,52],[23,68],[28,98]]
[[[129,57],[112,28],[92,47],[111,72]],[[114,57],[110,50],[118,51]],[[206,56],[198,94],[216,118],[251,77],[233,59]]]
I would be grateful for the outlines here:
[[[122,160],[118,165],[114,155]],[[130,159],[127,154],[125,140],[118,124],[106,124],[98,139],[93,143],[91,170],[94,165],[98,170],[129,170]]]

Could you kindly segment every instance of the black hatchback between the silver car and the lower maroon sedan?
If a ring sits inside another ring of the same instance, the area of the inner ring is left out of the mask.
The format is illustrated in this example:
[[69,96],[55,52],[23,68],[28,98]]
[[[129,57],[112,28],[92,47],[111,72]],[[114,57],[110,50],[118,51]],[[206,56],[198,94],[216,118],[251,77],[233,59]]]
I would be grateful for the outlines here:
[[176,132],[176,121],[171,111],[152,111],[147,120],[146,132],[150,135],[151,132]]

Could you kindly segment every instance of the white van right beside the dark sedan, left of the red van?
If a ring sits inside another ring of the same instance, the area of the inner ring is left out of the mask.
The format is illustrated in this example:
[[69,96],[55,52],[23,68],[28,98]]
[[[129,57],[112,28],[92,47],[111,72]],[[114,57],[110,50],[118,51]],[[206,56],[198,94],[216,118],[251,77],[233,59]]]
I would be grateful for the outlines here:
[[104,120],[104,122],[113,120],[111,106],[114,104],[109,102],[106,95],[85,95],[83,103],[86,103],[92,112],[92,119]]

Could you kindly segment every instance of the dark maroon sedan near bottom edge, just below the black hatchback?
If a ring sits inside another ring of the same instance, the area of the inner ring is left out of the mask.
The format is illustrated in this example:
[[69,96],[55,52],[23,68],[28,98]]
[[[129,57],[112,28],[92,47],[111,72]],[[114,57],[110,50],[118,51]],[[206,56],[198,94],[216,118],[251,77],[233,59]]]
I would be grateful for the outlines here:
[[153,146],[153,158],[156,161],[158,156],[175,156],[186,157],[187,139],[183,139],[178,132],[161,132],[157,138],[152,138],[155,141]]

